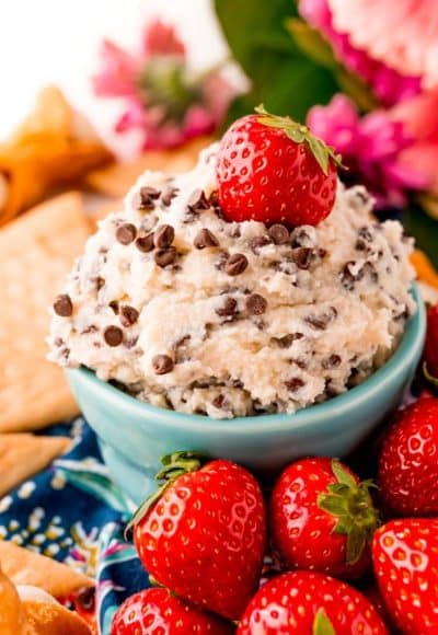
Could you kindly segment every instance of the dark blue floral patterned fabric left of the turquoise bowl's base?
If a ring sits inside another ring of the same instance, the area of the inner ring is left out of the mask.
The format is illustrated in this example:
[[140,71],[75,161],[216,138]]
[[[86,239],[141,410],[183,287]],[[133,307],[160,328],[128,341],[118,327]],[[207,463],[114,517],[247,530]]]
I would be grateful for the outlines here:
[[72,437],[72,448],[0,499],[0,538],[95,578],[99,630],[108,635],[119,604],[149,586],[134,546],[123,538],[134,505],[110,480],[95,435],[82,418],[45,434]]

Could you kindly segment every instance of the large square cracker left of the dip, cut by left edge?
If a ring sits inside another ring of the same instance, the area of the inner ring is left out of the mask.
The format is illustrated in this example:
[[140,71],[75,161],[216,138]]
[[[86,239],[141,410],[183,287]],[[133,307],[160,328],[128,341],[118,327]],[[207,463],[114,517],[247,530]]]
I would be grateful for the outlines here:
[[58,196],[0,231],[0,432],[44,428],[78,407],[46,360],[48,307],[90,234],[79,193]]

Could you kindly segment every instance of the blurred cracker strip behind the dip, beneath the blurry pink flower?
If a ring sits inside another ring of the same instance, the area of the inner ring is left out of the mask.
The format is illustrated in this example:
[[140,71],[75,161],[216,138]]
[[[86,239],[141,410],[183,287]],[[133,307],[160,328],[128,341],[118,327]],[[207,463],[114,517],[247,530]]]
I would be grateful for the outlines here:
[[146,170],[170,173],[192,170],[199,151],[211,143],[211,140],[210,137],[199,137],[175,150],[150,150],[136,161],[115,163],[108,168],[89,172],[85,183],[105,196],[123,198]]

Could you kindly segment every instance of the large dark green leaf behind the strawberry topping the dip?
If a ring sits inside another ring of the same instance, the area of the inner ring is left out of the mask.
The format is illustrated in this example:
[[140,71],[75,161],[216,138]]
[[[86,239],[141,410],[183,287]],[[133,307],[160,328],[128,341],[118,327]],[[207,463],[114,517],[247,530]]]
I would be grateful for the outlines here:
[[304,120],[311,106],[337,91],[332,72],[290,37],[287,19],[298,18],[290,0],[216,0],[215,7],[232,56],[252,83],[250,93],[233,103],[227,125],[261,102],[270,112]]

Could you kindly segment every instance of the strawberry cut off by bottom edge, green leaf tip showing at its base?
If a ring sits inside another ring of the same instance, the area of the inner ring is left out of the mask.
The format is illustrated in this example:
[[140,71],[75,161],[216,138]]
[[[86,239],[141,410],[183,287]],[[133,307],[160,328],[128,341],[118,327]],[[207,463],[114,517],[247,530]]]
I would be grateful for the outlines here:
[[264,585],[251,600],[238,635],[388,635],[359,591],[323,574],[292,572]]

